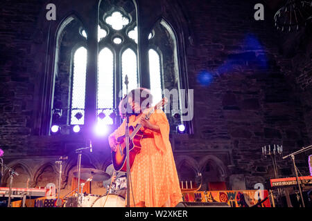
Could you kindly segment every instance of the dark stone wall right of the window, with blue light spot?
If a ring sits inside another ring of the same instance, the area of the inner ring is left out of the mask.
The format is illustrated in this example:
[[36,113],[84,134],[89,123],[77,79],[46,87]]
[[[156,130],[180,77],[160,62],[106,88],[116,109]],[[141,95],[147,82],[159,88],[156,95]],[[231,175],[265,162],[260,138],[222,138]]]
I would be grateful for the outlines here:
[[[289,77],[292,59],[281,53],[272,15],[255,21],[254,3],[184,1],[194,33],[187,61],[196,111],[194,135],[180,148],[231,149],[232,173],[243,174],[248,188],[274,176],[261,146],[282,144],[286,155],[311,142],[303,106],[310,99]],[[306,173],[306,155],[297,157]],[[294,175],[289,160],[278,164],[280,175]]]

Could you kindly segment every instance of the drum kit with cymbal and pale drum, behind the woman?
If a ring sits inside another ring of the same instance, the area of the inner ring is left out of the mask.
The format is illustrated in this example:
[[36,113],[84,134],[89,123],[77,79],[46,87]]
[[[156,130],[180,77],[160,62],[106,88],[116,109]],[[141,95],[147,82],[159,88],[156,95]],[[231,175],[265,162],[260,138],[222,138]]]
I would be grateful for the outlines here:
[[[78,177],[78,172],[74,172],[73,175]],[[127,190],[127,180],[125,175],[116,177],[114,180],[114,175],[109,175],[105,171],[92,168],[84,168],[80,170],[80,179],[89,182],[91,180],[96,182],[108,181],[110,179],[110,184],[105,185],[106,192],[104,195],[94,195],[89,193],[83,193],[78,195],[80,198],[80,205],[77,204],[77,197],[67,197],[64,196],[65,200],[64,207],[124,207],[125,206],[125,193]],[[85,183],[86,183],[85,182]],[[81,183],[80,186],[83,188],[85,183]],[[79,200],[78,200],[79,202]]]

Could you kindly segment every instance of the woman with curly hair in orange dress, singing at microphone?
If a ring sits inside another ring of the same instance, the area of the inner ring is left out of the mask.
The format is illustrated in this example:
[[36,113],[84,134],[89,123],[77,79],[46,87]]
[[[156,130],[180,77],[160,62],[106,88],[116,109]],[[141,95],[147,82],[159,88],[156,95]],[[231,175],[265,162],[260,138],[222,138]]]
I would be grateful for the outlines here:
[[[141,151],[130,169],[130,206],[173,207],[182,201],[182,193],[169,142],[168,119],[163,111],[157,110],[146,120],[151,103],[150,91],[137,88],[119,105],[121,115],[125,111],[130,115],[129,125],[141,124],[144,131]],[[125,120],[108,138],[112,151],[116,151],[116,138],[124,134]]]

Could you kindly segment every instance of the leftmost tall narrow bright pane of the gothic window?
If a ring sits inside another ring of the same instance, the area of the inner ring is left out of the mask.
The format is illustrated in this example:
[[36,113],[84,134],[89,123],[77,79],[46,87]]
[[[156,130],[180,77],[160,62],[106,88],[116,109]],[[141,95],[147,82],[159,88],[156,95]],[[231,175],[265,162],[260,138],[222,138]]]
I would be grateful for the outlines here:
[[[73,55],[73,88],[71,92],[71,124],[84,124],[85,111],[73,110],[85,108],[85,79],[87,67],[87,49],[80,47]],[[75,115],[80,112],[83,117],[78,119]]]

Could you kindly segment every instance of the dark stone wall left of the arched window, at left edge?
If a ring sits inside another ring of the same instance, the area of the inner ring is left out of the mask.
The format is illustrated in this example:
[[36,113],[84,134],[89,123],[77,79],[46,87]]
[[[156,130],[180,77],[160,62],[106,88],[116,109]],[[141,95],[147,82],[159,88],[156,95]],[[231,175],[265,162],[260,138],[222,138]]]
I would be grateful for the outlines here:
[[0,146],[6,155],[24,155],[32,133],[35,79],[44,72],[34,60],[40,45],[36,23],[42,1],[1,2],[0,35]]

